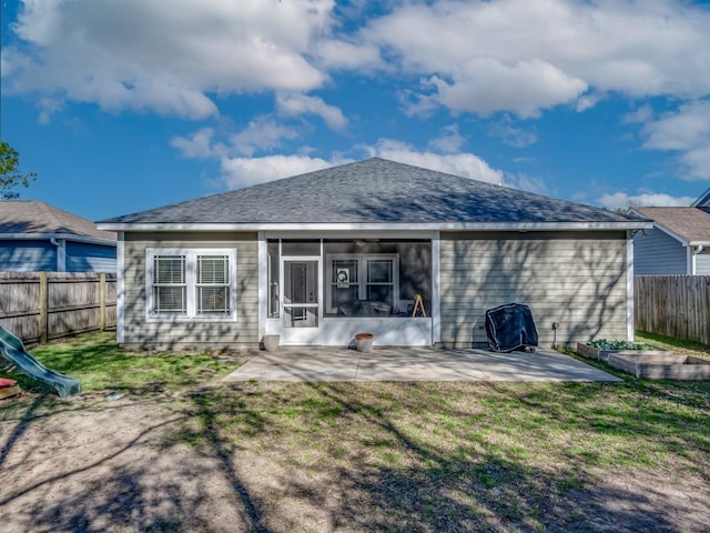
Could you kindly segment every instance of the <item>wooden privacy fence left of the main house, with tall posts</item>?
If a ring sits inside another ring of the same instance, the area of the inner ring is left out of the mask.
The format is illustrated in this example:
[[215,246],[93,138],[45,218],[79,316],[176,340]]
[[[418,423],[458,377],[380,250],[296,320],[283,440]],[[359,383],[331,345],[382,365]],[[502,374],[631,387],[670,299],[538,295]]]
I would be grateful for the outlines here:
[[115,326],[115,274],[0,272],[0,325],[24,343]]

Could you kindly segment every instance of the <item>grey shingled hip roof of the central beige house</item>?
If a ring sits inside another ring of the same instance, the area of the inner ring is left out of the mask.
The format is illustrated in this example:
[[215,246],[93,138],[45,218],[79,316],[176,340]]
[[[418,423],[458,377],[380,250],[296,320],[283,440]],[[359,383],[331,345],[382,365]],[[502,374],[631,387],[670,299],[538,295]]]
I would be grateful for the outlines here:
[[[379,158],[99,222],[155,228],[650,228],[642,219]],[[303,224],[308,224],[303,225]],[[339,225],[338,225],[339,224]]]

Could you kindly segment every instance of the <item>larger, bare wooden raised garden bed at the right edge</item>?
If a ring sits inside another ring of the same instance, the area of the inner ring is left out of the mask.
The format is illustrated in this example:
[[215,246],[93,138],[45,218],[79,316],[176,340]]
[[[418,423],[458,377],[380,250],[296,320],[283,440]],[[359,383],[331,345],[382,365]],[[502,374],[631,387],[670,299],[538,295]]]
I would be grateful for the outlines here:
[[612,353],[608,363],[615,369],[649,380],[710,380],[710,361],[672,352]]

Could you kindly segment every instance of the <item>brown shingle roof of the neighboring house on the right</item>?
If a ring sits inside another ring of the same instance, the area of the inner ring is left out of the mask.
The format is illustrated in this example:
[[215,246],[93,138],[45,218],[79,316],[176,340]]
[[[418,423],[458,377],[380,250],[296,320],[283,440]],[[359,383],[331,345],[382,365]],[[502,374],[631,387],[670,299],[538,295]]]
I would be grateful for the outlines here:
[[710,245],[710,214],[699,208],[632,208],[684,244]]

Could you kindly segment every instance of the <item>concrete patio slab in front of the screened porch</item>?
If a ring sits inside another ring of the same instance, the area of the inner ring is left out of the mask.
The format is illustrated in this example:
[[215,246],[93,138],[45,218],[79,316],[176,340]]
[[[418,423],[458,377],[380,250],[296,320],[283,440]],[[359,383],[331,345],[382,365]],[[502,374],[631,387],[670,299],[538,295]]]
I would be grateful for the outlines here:
[[554,350],[288,346],[260,352],[225,381],[622,381]]

